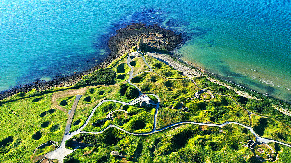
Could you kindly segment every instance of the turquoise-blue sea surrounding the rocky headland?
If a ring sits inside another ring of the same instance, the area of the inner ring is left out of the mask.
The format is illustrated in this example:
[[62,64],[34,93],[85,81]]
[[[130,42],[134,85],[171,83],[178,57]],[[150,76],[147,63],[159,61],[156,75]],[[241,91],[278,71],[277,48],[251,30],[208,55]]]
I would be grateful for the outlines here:
[[0,0],[0,91],[91,68],[132,22],[181,32],[188,63],[291,102],[290,0]]

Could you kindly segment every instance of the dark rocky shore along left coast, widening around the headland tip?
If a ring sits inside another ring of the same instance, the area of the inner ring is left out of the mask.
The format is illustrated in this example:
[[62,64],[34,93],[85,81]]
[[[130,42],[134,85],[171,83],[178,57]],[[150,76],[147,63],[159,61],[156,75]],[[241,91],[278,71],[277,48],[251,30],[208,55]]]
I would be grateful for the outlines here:
[[2,91],[0,93],[0,100],[3,100],[4,98],[18,92],[29,92],[32,89],[42,91],[52,87],[72,86],[81,80],[83,75],[90,74],[100,68],[108,67],[116,58],[119,58],[123,54],[129,52],[129,50],[136,45],[141,37],[145,38],[145,43],[149,47],[166,51],[174,50],[175,47],[182,41],[181,34],[175,34],[173,31],[166,30],[158,25],[146,26],[146,24],[143,23],[132,23],[127,25],[125,28],[117,30],[116,35],[110,37],[108,41],[110,50],[109,56],[93,68],[81,73],[75,73],[71,76],[56,76],[54,77],[54,80],[47,82],[38,80],[22,87],[13,87],[12,89]]

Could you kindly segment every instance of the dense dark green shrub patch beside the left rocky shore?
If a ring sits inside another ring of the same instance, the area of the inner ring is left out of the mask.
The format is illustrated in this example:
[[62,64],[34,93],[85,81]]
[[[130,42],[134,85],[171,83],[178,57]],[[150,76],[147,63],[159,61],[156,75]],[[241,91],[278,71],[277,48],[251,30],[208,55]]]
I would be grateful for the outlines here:
[[116,72],[104,68],[92,72],[89,75],[84,75],[82,80],[76,86],[89,85],[89,84],[113,84]]

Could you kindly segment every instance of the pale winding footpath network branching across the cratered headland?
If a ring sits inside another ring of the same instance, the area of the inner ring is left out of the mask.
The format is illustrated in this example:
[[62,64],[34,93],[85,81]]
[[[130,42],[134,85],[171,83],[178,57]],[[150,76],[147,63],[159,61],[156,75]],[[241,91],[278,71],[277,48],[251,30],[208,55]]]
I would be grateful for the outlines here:
[[[155,73],[155,72],[153,72],[153,70],[152,70],[152,68],[150,67],[150,65],[148,65],[148,63],[145,61],[145,57],[144,57],[144,56],[141,56],[141,57],[143,58],[143,61],[145,62],[145,64],[146,64],[146,65],[148,66],[148,68],[150,69],[150,71],[144,71],[144,72],[152,72],[152,73]],[[128,56],[128,57],[127,57],[127,65],[130,67],[131,71],[130,71],[130,73],[129,73],[129,79],[127,80],[127,82],[128,82],[130,85],[136,87],[136,88],[139,90],[139,95],[141,95],[142,92],[141,92],[141,90],[139,89],[139,87],[137,87],[136,85],[132,84],[130,81],[131,81],[131,79],[132,79],[134,76],[139,75],[139,74],[144,73],[144,72],[141,72],[141,73],[138,73],[138,74],[133,75],[133,67],[129,64],[130,61],[132,61],[132,60],[130,59],[130,56]],[[157,73],[155,73],[155,74],[157,74]],[[159,74],[157,74],[157,75],[159,75]],[[161,76],[161,75],[159,75],[159,76]],[[161,77],[166,78],[166,77],[164,77],[164,76],[161,76]],[[169,79],[169,80],[177,80],[177,79],[170,79],[170,78],[166,78],[166,79]],[[190,79],[190,80],[191,80],[191,81],[192,81],[192,82],[193,82],[193,83],[194,83],[194,84],[195,84],[199,89],[201,89],[201,90],[206,90],[206,91],[210,91],[210,90],[207,90],[207,89],[202,89],[202,88],[200,88],[200,87],[199,87],[199,86],[194,82],[194,80],[193,80],[192,78],[181,78],[181,79]],[[179,79],[178,79],[178,80],[179,80]],[[210,92],[213,92],[213,91],[210,91]],[[149,93],[145,93],[145,94],[149,94]],[[219,93],[216,93],[216,94],[219,94]],[[183,121],[183,122],[178,122],[178,123],[175,123],[175,124],[168,125],[168,126],[163,127],[163,128],[161,128],[161,129],[156,129],[156,125],[157,125],[157,115],[158,115],[158,108],[159,108],[159,104],[160,104],[160,98],[159,98],[157,95],[155,95],[155,94],[149,94],[149,95],[153,95],[153,96],[155,96],[155,97],[158,99],[158,103],[157,103],[156,111],[155,111],[155,115],[154,115],[154,124],[153,124],[153,129],[152,129],[152,131],[147,132],[147,133],[131,133],[131,132],[128,132],[128,131],[126,131],[126,130],[124,130],[124,129],[122,129],[122,128],[116,126],[116,125],[113,125],[113,124],[110,124],[110,125],[107,126],[105,129],[103,129],[102,131],[99,131],[99,132],[81,131],[81,130],[84,129],[84,128],[86,127],[86,125],[89,123],[89,121],[91,120],[91,118],[92,118],[93,114],[95,113],[96,109],[97,109],[100,105],[102,105],[104,102],[118,102],[118,103],[120,103],[120,104],[122,104],[122,105],[135,105],[136,103],[141,102],[141,99],[139,99],[139,98],[136,98],[136,99],[132,100],[132,101],[129,102],[129,103],[122,102],[122,101],[117,101],[117,100],[103,100],[103,101],[101,101],[98,105],[96,105],[96,106],[94,107],[93,111],[92,111],[91,114],[89,115],[89,117],[88,117],[88,119],[86,120],[86,122],[82,125],[82,127],[80,127],[79,129],[77,129],[77,130],[74,131],[74,132],[64,134],[63,140],[62,140],[62,142],[61,142],[61,146],[58,147],[57,149],[55,149],[54,151],[47,153],[47,154],[45,155],[45,157],[48,157],[48,158],[50,158],[50,159],[58,159],[60,163],[63,163],[63,159],[64,159],[64,157],[65,157],[66,155],[72,153],[72,152],[75,150],[75,149],[74,149],[74,150],[66,149],[66,148],[65,148],[65,141],[71,139],[74,135],[77,135],[77,134],[80,134],[80,133],[99,134],[99,133],[103,133],[104,131],[106,131],[106,130],[109,129],[110,127],[114,127],[114,128],[116,128],[116,129],[119,129],[119,130],[121,130],[121,131],[123,131],[123,132],[125,132],[125,133],[127,133],[127,134],[130,134],[130,135],[150,135],[150,134],[153,134],[153,133],[157,133],[157,132],[160,132],[160,131],[164,131],[164,130],[169,129],[169,128],[174,127],[174,126],[179,126],[179,125],[181,125],[181,124],[195,124],[195,125],[201,125],[201,126],[214,126],[214,127],[223,127],[223,126],[226,126],[226,125],[228,125],[228,124],[238,124],[238,125],[240,125],[240,126],[242,126],[242,127],[245,127],[245,128],[247,128],[247,129],[249,129],[249,130],[251,131],[251,133],[253,133],[253,135],[255,135],[255,137],[256,137],[256,142],[262,142],[262,143],[265,143],[265,144],[268,144],[268,143],[270,143],[270,142],[276,142],[276,143],[278,143],[278,144],[282,144],[282,145],[285,145],[285,146],[288,146],[288,147],[291,148],[291,145],[289,145],[289,144],[285,144],[285,143],[283,143],[283,142],[279,142],[279,141],[276,141],[276,140],[271,140],[271,139],[262,138],[262,137],[260,137],[259,135],[257,135],[257,134],[255,133],[255,131],[253,131],[253,129],[252,129],[251,127],[246,126],[246,125],[241,124],[241,123],[238,123],[238,122],[225,122],[225,123],[223,123],[223,124],[212,124],[212,123],[199,123],[199,122]],[[250,117],[250,120],[251,120],[251,114],[256,115],[256,116],[260,116],[260,115],[257,115],[257,114],[255,114],[255,113],[252,113],[252,112],[246,110],[245,108],[243,108],[242,106],[240,106],[240,105],[239,105],[239,104],[238,104],[238,103],[237,103],[237,102],[236,102],[236,101],[235,101],[231,96],[223,95],[223,94],[219,94],[219,95],[230,97],[230,98],[231,98],[231,99],[232,99],[232,100],[233,100],[233,101],[234,101],[234,102],[235,102],[239,107],[241,107],[242,109],[244,109],[245,111],[248,112],[249,117]],[[116,111],[123,111],[123,110],[116,110]],[[113,112],[116,112],[116,111],[113,111]],[[112,113],[113,113],[113,112],[112,112]],[[263,117],[263,116],[261,116],[261,117]],[[251,126],[251,125],[250,125],[250,126]],[[78,147],[77,147],[77,148],[78,148]],[[77,148],[76,148],[76,149],[77,149]]]

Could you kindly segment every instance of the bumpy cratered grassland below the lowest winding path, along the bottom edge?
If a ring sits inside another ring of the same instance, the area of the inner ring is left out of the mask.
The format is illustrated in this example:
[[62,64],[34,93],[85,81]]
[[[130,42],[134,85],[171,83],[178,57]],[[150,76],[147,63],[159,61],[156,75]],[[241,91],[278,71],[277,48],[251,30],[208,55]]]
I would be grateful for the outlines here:
[[[73,138],[94,145],[79,148],[68,156],[76,162],[257,162],[251,149],[241,146],[254,136],[235,124],[222,128],[188,124],[145,136],[110,128],[101,134],[79,134]],[[89,151],[91,154],[83,155]],[[118,151],[126,160],[113,157],[111,151]]]

